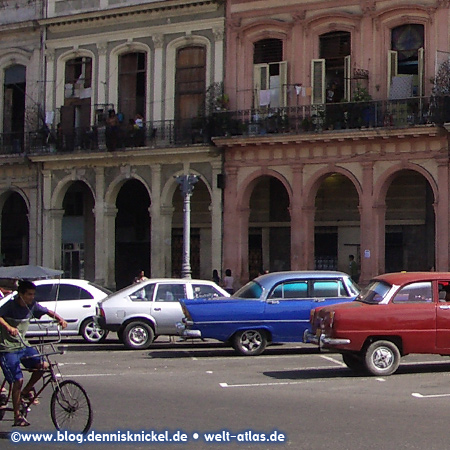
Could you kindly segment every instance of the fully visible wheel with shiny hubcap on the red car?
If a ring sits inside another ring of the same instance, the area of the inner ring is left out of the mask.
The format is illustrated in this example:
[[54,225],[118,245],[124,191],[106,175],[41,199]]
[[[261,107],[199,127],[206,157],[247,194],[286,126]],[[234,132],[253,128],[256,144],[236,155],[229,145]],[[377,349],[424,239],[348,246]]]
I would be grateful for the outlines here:
[[391,375],[400,364],[400,351],[390,341],[376,341],[367,347],[364,362],[372,375]]

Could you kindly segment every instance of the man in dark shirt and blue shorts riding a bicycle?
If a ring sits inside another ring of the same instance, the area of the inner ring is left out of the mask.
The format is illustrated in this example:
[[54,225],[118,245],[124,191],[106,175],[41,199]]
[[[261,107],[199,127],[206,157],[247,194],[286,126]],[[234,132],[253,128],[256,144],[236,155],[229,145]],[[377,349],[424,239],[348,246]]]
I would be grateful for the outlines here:
[[[21,397],[34,399],[34,385],[47,368],[35,347],[25,341],[25,333],[32,318],[39,319],[47,314],[59,322],[61,328],[67,322],[54,311],[41,306],[34,300],[36,286],[31,281],[21,280],[18,293],[0,307],[0,365],[6,380],[12,385],[11,396],[14,409],[13,426],[26,427],[29,422],[20,414]],[[23,373],[20,364],[32,369],[30,380],[22,389]]]

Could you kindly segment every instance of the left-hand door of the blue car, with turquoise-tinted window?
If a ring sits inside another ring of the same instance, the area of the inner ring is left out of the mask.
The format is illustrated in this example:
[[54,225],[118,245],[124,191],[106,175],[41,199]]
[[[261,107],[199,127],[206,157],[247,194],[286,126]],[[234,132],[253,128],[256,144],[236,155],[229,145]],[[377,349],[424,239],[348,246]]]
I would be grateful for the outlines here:
[[269,292],[265,304],[264,323],[274,342],[299,342],[309,325],[312,301],[308,280],[289,280]]

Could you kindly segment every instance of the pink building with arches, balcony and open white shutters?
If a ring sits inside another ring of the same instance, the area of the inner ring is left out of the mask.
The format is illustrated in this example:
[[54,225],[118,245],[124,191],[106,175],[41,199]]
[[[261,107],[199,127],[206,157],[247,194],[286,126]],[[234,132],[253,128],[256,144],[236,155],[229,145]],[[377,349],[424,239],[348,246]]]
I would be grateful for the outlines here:
[[[273,6],[268,7],[268,4]],[[230,0],[224,267],[449,270],[449,1]]]

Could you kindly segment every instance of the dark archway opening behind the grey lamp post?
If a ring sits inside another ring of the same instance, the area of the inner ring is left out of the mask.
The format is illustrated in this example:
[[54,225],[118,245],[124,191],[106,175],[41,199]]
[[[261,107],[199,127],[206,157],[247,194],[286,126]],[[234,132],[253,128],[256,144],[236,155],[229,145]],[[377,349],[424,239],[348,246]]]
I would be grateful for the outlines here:
[[[181,276],[183,262],[183,205],[184,197],[180,189],[173,195],[172,219],[172,275]],[[206,184],[200,179],[191,196],[191,239],[190,263],[192,278],[211,278],[212,236],[211,236],[211,196]]]

